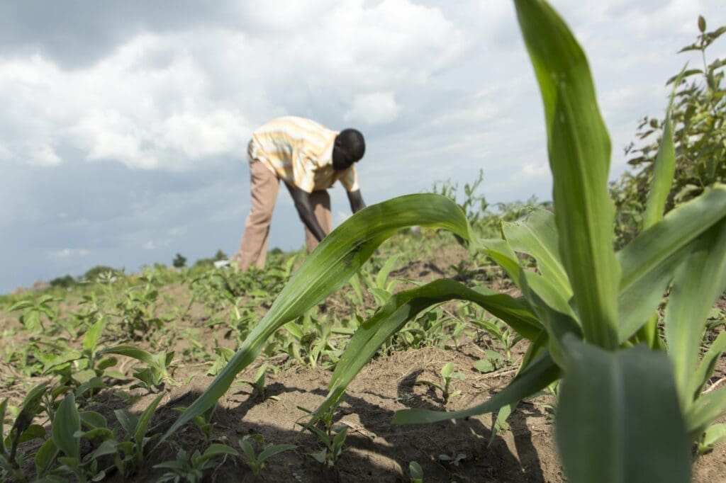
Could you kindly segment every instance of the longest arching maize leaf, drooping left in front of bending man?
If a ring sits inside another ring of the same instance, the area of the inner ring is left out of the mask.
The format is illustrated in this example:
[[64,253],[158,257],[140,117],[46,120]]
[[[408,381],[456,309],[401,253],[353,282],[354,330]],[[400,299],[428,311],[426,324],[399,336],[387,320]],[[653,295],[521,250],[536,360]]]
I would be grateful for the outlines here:
[[224,395],[234,376],[255,360],[274,331],[343,286],[383,241],[409,226],[446,228],[471,240],[464,212],[441,195],[410,194],[360,210],[335,228],[306,258],[227,366],[205,392],[181,413],[161,440],[197,414],[203,413]]

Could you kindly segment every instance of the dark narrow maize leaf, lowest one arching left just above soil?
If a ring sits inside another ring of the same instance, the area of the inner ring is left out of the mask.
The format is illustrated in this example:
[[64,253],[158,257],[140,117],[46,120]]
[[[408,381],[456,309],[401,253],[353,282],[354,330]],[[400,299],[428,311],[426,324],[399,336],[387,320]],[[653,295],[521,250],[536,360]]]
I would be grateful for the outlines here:
[[560,378],[560,368],[550,358],[548,352],[540,353],[537,358],[491,399],[479,405],[458,411],[433,411],[425,409],[406,409],[393,414],[393,424],[429,424],[448,419],[466,418],[477,414],[491,413],[505,405],[513,404],[533,395],[543,387]]

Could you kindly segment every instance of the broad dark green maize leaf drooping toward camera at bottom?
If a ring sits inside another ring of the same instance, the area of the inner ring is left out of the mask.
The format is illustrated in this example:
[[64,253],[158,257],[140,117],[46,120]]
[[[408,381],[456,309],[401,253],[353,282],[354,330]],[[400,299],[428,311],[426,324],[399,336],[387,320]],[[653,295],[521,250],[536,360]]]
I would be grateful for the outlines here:
[[[567,337],[557,441],[573,482],[688,482],[685,432],[668,358],[608,352]],[[597,458],[592,458],[597,455]]]

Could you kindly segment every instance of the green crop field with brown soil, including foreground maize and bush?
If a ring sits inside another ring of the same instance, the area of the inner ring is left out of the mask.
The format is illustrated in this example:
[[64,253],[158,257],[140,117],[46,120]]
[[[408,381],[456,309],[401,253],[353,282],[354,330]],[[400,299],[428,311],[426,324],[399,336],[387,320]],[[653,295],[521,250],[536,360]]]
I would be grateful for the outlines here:
[[608,184],[584,52],[515,7],[553,202],[436,183],[264,271],[0,297],[2,481],[721,481],[726,28]]

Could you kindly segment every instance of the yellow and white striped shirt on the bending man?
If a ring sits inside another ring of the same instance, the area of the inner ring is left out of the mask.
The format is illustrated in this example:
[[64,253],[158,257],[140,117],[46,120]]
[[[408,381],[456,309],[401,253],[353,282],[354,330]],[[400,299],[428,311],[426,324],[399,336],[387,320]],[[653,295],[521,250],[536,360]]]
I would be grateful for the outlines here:
[[347,191],[359,189],[358,173],[351,166],[333,169],[333,141],[338,131],[303,117],[280,117],[252,133],[251,160],[261,161],[277,178],[306,193],[328,189],[340,181]]

